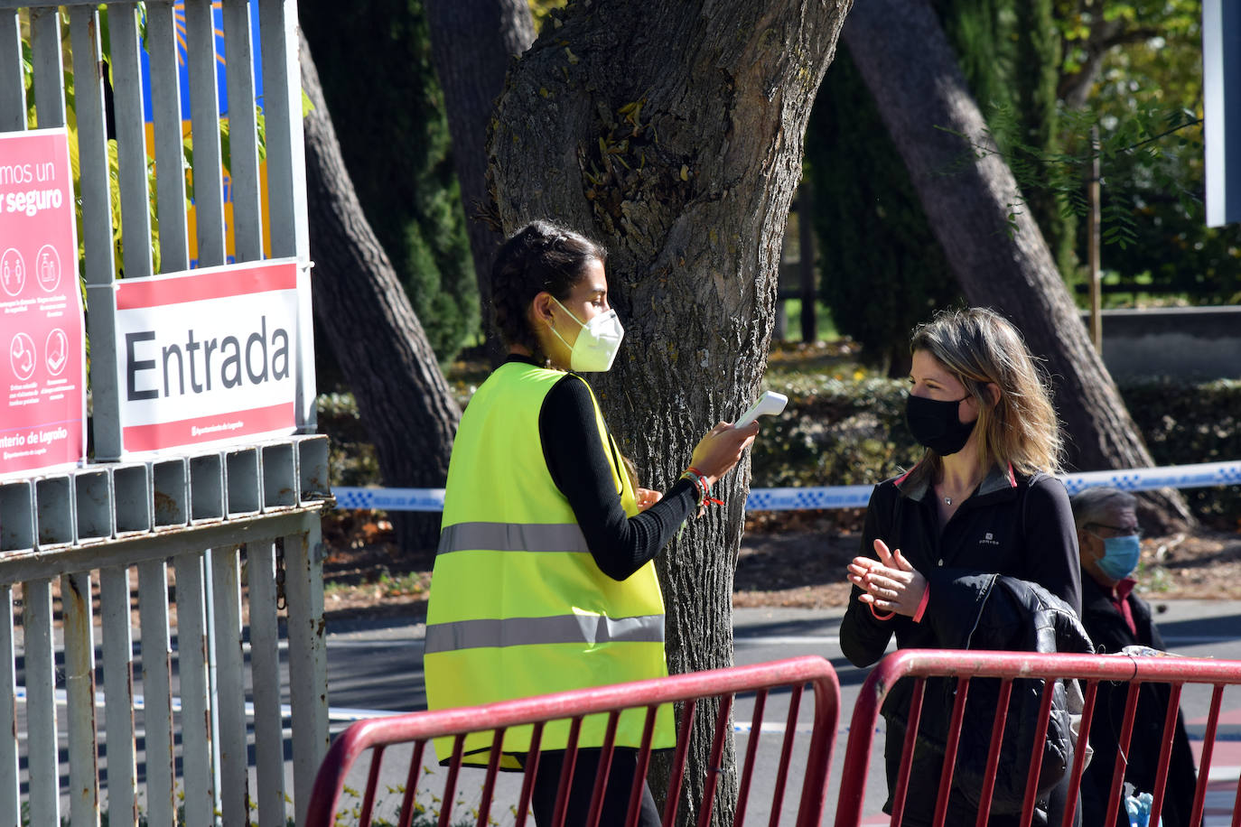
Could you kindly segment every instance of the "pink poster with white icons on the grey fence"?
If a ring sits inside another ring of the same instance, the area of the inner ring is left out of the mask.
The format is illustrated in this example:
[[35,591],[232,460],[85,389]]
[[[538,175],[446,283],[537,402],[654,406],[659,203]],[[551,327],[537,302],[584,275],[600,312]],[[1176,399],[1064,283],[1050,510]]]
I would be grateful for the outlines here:
[[0,477],[83,459],[84,342],[68,134],[0,133]]

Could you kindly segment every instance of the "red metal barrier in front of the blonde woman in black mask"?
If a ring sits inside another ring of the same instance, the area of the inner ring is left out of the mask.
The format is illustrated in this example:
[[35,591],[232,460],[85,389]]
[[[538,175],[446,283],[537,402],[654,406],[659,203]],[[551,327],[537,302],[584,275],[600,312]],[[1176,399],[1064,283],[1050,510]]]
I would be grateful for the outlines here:
[[[1129,738],[1133,732],[1133,719],[1137,709],[1138,691],[1143,683],[1170,684],[1170,697],[1168,712],[1164,715],[1163,736],[1160,741],[1158,776],[1154,801],[1150,810],[1149,823],[1159,823],[1164,801],[1164,785],[1168,775],[1168,764],[1172,754],[1174,728],[1176,725],[1176,709],[1180,701],[1180,689],[1184,684],[1212,686],[1211,707],[1206,724],[1205,740],[1200,765],[1210,767],[1211,750],[1215,745],[1216,725],[1220,718],[1220,703],[1225,686],[1241,684],[1241,661],[1217,661],[1210,658],[1188,657],[1132,657],[1127,655],[1037,655],[1025,652],[984,652],[961,650],[902,650],[889,655],[879,665],[862,684],[861,692],[854,707],[853,719],[849,728],[849,741],[845,748],[844,771],[840,779],[840,796],[836,807],[836,827],[856,827],[862,820],[864,796],[866,789],[866,770],[870,761],[870,753],[875,738],[876,724],[879,723],[880,708],[897,681],[912,678],[916,681],[910,705],[906,739],[901,755],[900,772],[894,785],[891,823],[900,825],[903,812],[907,811],[906,792],[908,790],[911,772],[911,754],[915,734],[918,730],[918,720],[922,713],[922,701],[925,697],[926,678],[944,677],[957,678],[956,701],[952,710],[952,719],[948,728],[948,741],[944,750],[943,774],[938,786],[938,800],[936,801],[933,825],[939,827],[944,823],[948,794],[954,771],[954,758],[958,738],[962,732],[965,696],[968,693],[970,678],[1001,678],[1000,701],[997,704],[995,717],[992,724],[990,753],[988,754],[984,789],[980,791],[979,811],[985,813],[990,810],[992,789],[998,770],[1000,743],[1004,733],[1005,717],[1008,712],[1008,698],[1014,678],[1045,678],[1042,702],[1035,724],[1036,733],[1046,733],[1047,719],[1052,702],[1054,681],[1051,678],[1078,678],[1083,683],[1085,709],[1082,712],[1082,734],[1090,732],[1091,718],[1095,713],[1095,696],[1101,681],[1128,682],[1129,689],[1126,698],[1124,723],[1121,733],[1119,749],[1114,756],[1112,771],[1112,786],[1108,798],[1108,813],[1104,825],[1114,825],[1117,812],[1123,797],[1122,782],[1127,766],[1126,754],[1129,746]],[[1031,754],[1029,775],[1025,785],[1025,801],[1021,812],[1021,825],[1029,825],[1035,806],[1036,785],[1041,761],[1042,743],[1035,739],[1034,753]],[[1093,760],[1101,760],[1096,754]],[[1102,756],[1102,760],[1111,760]],[[1082,770],[1085,769],[1085,750],[1078,749],[1070,766],[1069,811],[1064,815],[1062,825],[1072,823],[1077,794],[1081,785]],[[1190,823],[1201,823],[1203,806],[1205,801],[1207,772],[1200,771],[1198,786],[1194,795]],[[918,802],[926,805],[927,802]],[[1241,803],[1241,787],[1239,787],[1239,803]],[[1235,807],[1234,826],[1241,820],[1241,807]],[[985,817],[979,816],[978,823],[985,823]],[[1095,825],[1086,827],[1098,827]]]

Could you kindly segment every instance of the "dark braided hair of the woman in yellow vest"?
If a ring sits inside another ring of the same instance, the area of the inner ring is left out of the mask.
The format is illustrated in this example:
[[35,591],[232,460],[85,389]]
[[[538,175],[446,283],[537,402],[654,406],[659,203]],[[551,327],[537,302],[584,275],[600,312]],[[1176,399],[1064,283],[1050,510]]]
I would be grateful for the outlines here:
[[544,290],[567,299],[587,263],[602,264],[607,255],[602,244],[550,221],[531,221],[509,236],[491,267],[491,307],[504,343],[537,353],[539,340],[526,319],[530,303]]

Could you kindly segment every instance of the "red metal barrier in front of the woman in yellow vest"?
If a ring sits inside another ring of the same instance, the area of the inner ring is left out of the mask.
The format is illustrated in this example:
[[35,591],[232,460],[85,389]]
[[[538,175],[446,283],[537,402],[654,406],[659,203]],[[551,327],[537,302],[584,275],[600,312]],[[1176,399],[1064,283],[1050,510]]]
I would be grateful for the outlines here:
[[[336,823],[338,807],[341,802],[345,779],[354,764],[367,751],[372,753],[367,774],[366,789],[362,795],[359,825],[367,827],[371,823],[375,806],[376,791],[381,774],[383,750],[395,744],[413,744],[413,755],[410,760],[406,774],[403,801],[401,806],[400,822],[410,825],[414,802],[416,785],[419,780],[424,748],[428,740],[441,736],[455,736],[455,749],[450,758],[448,772],[444,781],[443,792],[439,795],[441,813],[439,827],[447,827],[452,802],[455,800],[458,774],[462,763],[462,743],[465,734],[478,732],[494,732],[494,744],[499,745],[504,738],[504,730],[521,724],[535,724],[531,739],[530,759],[526,761],[524,780],[521,785],[520,800],[516,807],[516,827],[522,827],[526,822],[526,813],[530,806],[534,775],[537,771],[539,738],[542,733],[542,724],[550,720],[572,720],[568,748],[566,749],[565,772],[560,780],[560,795],[555,808],[555,827],[561,827],[565,817],[565,791],[572,782],[573,754],[576,751],[577,727],[586,715],[607,713],[609,714],[608,736],[604,740],[602,756],[599,760],[598,776],[594,784],[594,792],[591,800],[587,827],[594,827],[599,820],[602,806],[602,790],[607,784],[607,774],[612,758],[612,733],[619,714],[624,709],[647,709],[647,725],[643,736],[643,745],[638,750],[638,772],[629,796],[627,827],[633,827],[638,817],[638,802],[642,795],[642,780],[645,776],[645,767],[650,758],[650,738],[654,727],[655,710],[660,704],[684,702],[683,720],[679,728],[678,744],[671,771],[671,782],[666,806],[664,810],[664,823],[671,825],[676,816],[676,806],[680,801],[681,784],[686,772],[685,759],[688,754],[689,722],[699,701],[704,698],[719,698],[719,712],[715,725],[715,738],[711,746],[711,766],[692,767],[691,771],[701,771],[704,779],[704,794],[699,807],[699,825],[706,825],[715,801],[716,784],[720,774],[714,770],[719,766],[719,759],[725,748],[725,739],[728,736],[728,713],[733,697],[738,692],[755,692],[755,712],[751,725],[751,735],[746,748],[746,759],[740,774],[740,792],[735,825],[741,827],[747,802],[751,801],[751,781],[753,777],[755,760],[759,732],[762,728],[762,715],[767,697],[772,689],[788,688],[791,691],[789,713],[784,727],[784,740],[781,748],[781,763],[777,770],[776,785],[772,794],[771,827],[779,820],[784,786],[792,761],[793,741],[797,734],[797,720],[799,702],[805,684],[809,683],[814,691],[814,715],[813,730],[805,758],[805,775],[802,781],[802,796],[797,813],[797,827],[818,827],[823,818],[823,807],[828,782],[828,767],[831,761],[831,746],[835,741],[836,722],[840,714],[840,686],[836,681],[831,665],[822,657],[797,657],[787,661],[772,663],[758,663],[755,666],[738,666],[726,670],[712,670],[707,672],[695,672],[680,674],[656,681],[639,681],[634,683],[622,683],[608,687],[591,689],[578,689],[557,694],[540,696],[535,698],[522,698],[520,701],[506,701],[483,707],[470,707],[462,709],[444,709],[441,712],[418,712],[391,718],[377,718],[352,724],[333,741],[328,755],[319,767],[314,789],[310,796],[307,827],[333,827]],[[496,756],[499,750],[491,750],[491,763],[486,767],[486,776],[483,784],[483,798],[478,807],[478,826],[484,827],[491,812],[491,797],[495,789]],[[443,758],[443,756],[439,756]]]

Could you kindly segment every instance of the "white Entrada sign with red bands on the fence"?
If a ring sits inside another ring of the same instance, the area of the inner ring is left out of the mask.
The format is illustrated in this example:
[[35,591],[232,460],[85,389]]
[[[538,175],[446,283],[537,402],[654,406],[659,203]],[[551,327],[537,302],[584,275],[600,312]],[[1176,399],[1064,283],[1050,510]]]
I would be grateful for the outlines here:
[[117,281],[122,455],[292,434],[309,289],[292,259]]

